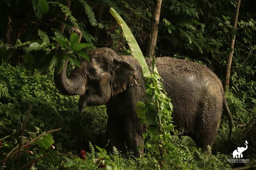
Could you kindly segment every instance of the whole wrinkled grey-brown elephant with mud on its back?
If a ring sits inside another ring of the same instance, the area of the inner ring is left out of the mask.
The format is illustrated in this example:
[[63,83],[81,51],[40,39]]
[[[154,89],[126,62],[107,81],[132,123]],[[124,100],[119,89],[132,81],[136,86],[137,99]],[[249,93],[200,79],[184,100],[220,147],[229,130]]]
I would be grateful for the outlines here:
[[[145,92],[145,79],[140,64],[132,56],[119,56],[108,48],[88,53],[90,63],[80,61],[82,68],[74,68],[66,76],[65,67],[55,71],[54,82],[60,92],[80,95],[80,111],[86,106],[106,105],[107,135],[110,148],[126,152],[133,150],[139,156],[143,150],[141,126],[136,116],[136,103]],[[147,59],[151,66],[150,59]],[[219,78],[206,66],[190,61],[156,58],[156,67],[164,79],[164,88],[172,99],[175,125],[190,136],[202,150],[212,147],[220,125],[222,110],[228,113],[230,135],[232,120]],[[229,135],[229,138],[230,138]]]

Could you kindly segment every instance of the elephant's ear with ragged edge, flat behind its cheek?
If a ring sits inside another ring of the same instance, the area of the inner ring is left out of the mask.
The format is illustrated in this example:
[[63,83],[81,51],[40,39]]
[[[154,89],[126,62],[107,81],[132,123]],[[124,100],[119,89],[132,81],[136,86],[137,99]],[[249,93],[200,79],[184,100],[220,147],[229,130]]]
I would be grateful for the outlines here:
[[136,69],[130,63],[114,59],[111,81],[112,96],[124,92],[130,86],[138,85],[138,76],[136,74]]

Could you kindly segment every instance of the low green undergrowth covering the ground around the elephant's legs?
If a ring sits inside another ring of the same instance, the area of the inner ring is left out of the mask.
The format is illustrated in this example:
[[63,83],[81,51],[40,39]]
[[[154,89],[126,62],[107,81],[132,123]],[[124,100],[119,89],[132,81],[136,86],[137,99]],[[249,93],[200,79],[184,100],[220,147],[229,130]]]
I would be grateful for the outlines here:
[[[52,71],[45,74],[35,73],[36,71],[26,70],[24,66],[12,67],[7,64],[0,66],[0,160],[5,158],[12,147],[18,145],[22,121],[32,106],[24,137],[31,139],[36,137],[35,134],[30,133],[32,131],[44,132],[62,128],[52,133],[55,150],[49,148],[42,152],[36,147],[36,143],[32,143],[28,150],[34,152],[34,155],[30,155],[25,149],[22,151],[24,152],[22,158],[27,158],[23,160],[24,162],[43,155],[43,158],[38,158],[34,167],[40,169],[160,169],[159,162],[147,151],[144,158],[140,159],[130,154],[120,153],[118,150],[111,155],[108,154],[105,149],[102,149],[107,145],[105,107],[87,107],[80,114],[77,107],[78,96],[60,94],[54,86]],[[250,124],[252,120],[249,119],[252,112],[248,111],[246,105],[231,92],[227,94],[227,98],[234,117],[231,144],[228,145],[227,142],[228,123],[224,116],[220,133],[212,148],[213,156],[196,149],[194,141],[189,137],[172,136],[172,142],[168,144],[170,150],[166,151],[168,159],[164,165],[165,169],[229,169],[232,164],[227,159],[231,158],[231,152],[242,145],[244,140],[248,140],[251,147],[244,152],[244,155],[250,160],[255,158],[255,150],[252,146],[255,145],[256,128],[253,123]],[[236,117],[237,113],[242,113],[243,116]],[[240,123],[243,122],[246,125],[241,127]],[[150,143],[146,145],[150,148]],[[79,158],[80,150],[86,151],[84,160]],[[50,158],[54,161],[44,162]],[[6,166],[15,169],[15,159],[15,155],[10,157]]]

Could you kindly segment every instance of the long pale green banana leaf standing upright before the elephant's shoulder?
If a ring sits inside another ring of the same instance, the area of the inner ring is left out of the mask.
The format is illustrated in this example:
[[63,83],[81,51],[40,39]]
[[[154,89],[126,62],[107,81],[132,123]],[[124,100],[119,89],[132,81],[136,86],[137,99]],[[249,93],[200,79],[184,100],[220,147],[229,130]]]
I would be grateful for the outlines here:
[[140,50],[140,47],[139,47],[136,39],[134,38],[130,28],[126,25],[126,23],[121,18],[121,16],[116,12],[116,10],[114,10],[113,8],[110,8],[110,13],[116,19],[118,24],[122,27],[124,36],[126,38],[126,41],[127,41],[128,45],[130,46],[131,53],[132,53],[133,57],[136,60],[138,60],[138,62],[142,66],[143,75],[145,77],[150,77],[150,71],[148,69],[148,65],[147,65],[147,63],[146,63],[146,61],[144,59],[144,56],[143,56],[143,54],[142,54],[142,52]]

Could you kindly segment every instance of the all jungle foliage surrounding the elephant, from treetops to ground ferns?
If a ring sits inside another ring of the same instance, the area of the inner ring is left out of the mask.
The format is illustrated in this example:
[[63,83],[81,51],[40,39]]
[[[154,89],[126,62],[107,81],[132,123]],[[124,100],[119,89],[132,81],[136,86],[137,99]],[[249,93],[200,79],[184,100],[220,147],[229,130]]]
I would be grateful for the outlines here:
[[[228,121],[222,117],[213,155],[196,149],[189,137],[170,135],[170,142],[162,143],[166,141],[145,135],[146,152],[138,159],[117,149],[112,154],[106,151],[106,108],[87,107],[78,113],[78,96],[56,90],[53,68],[61,69],[64,59],[79,66],[78,60],[87,59],[86,52],[96,47],[131,53],[110,7],[122,16],[145,54],[154,1],[72,0],[70,8],[66,2],[0,0],[1,169],[230,169],[233,164],[227,159],[245,140],[249,148],[244,158],[256,160],[254,0],[242,0],[236,29],[236,1],[163,0],[156,57],[206,64],[223,81],[230,41],[236,35],[226,92],[234,129],[228,143]],[[64,33],[61,23],[66,25]],[[50,133],[53,129],[56,132]],[[168,150],[159,149],[163,145]]]

